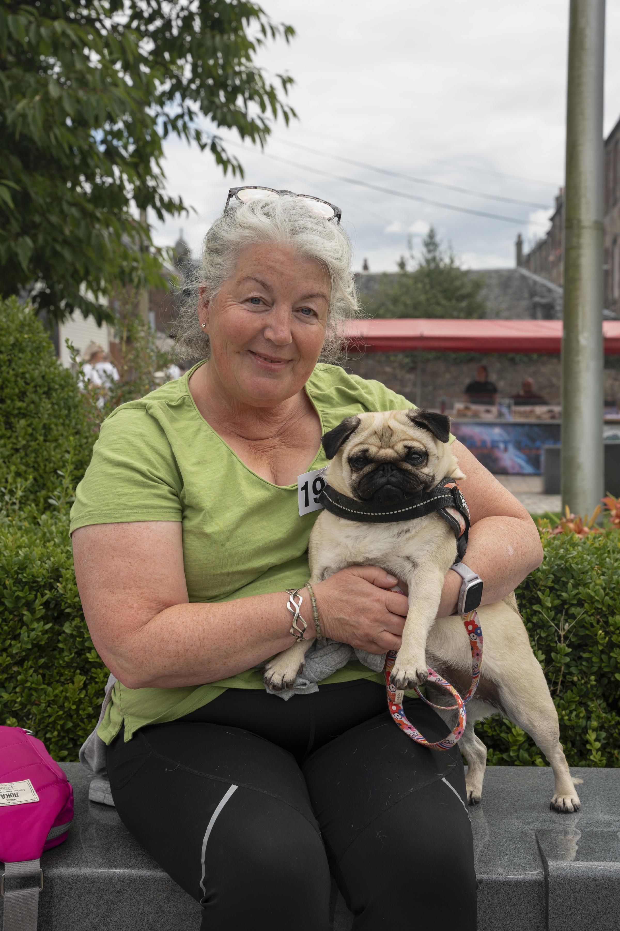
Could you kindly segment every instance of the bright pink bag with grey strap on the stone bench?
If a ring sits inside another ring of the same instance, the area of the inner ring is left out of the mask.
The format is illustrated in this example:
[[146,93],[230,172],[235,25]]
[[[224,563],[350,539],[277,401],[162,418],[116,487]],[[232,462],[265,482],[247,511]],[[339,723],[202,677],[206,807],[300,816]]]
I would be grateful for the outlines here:
[[[45,745],[31,731],[0,725],[0,879],[3,931],[35,931],[40,857],[62,843],[73,821],[73,789]],[[38,886],[5,888],[7,879],[36,876]]]

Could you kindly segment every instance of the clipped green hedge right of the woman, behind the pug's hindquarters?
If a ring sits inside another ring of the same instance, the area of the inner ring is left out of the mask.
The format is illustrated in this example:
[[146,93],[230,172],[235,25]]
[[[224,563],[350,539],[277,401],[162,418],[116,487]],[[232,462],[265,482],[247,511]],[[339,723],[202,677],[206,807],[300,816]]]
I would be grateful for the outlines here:
[[[542,533],[545,559],[517,590],[572,766],[620,766],[620,532]],[[506,719],[478,728],[489,762],[546,765]]]

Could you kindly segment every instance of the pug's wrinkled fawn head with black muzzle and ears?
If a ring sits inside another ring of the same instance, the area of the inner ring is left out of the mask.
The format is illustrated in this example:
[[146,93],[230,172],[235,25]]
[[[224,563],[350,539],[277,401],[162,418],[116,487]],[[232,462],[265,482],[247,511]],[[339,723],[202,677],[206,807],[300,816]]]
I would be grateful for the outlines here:
[[378,505],[410,498],[445,476],[464,479],[447,445],[450,419],[431,411],[348,417],[323,437],[326,475],[341,494]]

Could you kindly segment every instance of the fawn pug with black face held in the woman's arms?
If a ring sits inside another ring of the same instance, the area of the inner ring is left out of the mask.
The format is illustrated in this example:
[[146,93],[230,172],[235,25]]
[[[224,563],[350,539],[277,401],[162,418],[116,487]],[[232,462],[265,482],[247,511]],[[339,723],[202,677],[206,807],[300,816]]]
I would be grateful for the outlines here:
[[[464,479],[448,445],[450,419],[429,411],[388,411],[348,417],[323,436],[331,460],[328,484],[357,501],[398,504],[434,488],[442,479]],[[428,678],[428,666],[465,695],[471,681],[471,651],[459,616],[437,618],[443,581],[456,557],[455,533],[435,511],[393,523],[363,523],[323,510],[310,534],[310,584],[351,565],[376,565],[408,587],[409,610],[402,646],[391,671],[395,688],[408,690]],[[459,748],[468,760],[468,801],[481,800],[486,748],[474,724],[500,713],[529,734],[546,755],[555,776],[551,808],[574,812],[581,803],[560,743],[558,714],[536,660],[514,593],[483,605],[478,616],[484,637],[481,680],[468,702],[468,720]],[[313,638],[297,641],[265,667],[265,683],[290,688],[303,669]],[[429,699],[453,699],[427,685]],[[440,711],[450,727],[455,711]]]

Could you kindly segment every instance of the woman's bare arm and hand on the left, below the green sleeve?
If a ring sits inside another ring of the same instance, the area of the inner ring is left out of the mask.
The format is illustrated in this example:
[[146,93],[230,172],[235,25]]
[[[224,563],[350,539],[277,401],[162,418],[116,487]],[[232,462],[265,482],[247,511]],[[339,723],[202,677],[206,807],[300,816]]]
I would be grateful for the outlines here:
[[[178,521],[81,527],[73,559],[95,648],[128,688],[226,679],[293,644],[284,592],[189,602]],[[394,584],[383,569],[354,566],[315,585],[325,636],[370,653],[397,650],[407,600],[389,591]],[[311,612],[304,616],[311,629]]]

